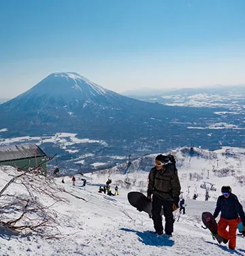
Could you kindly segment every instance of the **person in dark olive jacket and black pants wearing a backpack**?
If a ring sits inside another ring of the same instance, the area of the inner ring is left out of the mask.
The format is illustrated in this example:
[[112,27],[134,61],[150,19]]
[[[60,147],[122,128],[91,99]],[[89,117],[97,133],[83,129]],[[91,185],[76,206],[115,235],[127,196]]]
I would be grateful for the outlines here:
[[165,235],[171,236],[174,231],[173,211],[177,210],[180,201],[180,180],[175,165],[175,159],[171,155],[158,155],[155,166],[148,176],[147,198],[152,195],[152,220],[154,229],[160,236],[163,235],[163,223],[161,210],[165,217]]

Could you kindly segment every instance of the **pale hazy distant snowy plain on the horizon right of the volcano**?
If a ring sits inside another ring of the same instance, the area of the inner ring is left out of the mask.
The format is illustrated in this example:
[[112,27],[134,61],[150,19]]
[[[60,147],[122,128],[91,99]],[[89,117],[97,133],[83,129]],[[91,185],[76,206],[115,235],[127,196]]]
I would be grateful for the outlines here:
[[[244,110],[245,84],[216,85],[200,88],[128,91],[122,95],[166,106],[191,106],[197,108],[223,107],[238,114]],[[244,113],[244,112],[243,112]]]

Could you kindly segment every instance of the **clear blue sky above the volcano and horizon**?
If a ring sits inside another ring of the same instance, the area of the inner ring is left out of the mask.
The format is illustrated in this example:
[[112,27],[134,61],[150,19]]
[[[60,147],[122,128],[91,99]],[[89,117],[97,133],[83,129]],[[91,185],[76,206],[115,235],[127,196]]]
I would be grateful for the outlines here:
[[0,1],[0,97],[57,71],[118,93],[245,84],[244,0]]

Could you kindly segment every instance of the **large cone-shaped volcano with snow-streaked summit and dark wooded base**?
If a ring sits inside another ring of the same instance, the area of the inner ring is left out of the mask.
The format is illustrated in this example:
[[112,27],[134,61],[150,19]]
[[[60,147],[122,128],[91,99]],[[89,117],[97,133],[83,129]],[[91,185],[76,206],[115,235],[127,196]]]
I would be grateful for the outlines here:
[[29,91],[3,103],[0,129],[7,128],[9,137],[16,133],[41,135],[63,131],[114,139],[124,136],[125,129],[139,137],[151,127],[159,133],[152,118],[165,120],[176,111],[119,95],[76,73],[63,72],[51,74]]

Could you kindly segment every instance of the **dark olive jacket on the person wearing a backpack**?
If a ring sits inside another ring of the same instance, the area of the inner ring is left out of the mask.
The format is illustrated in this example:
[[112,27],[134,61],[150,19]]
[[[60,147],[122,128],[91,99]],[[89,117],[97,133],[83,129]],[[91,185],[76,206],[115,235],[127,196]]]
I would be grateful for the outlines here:
[[180,180],[174,164],[166,165],[163,170],[153,167],[150,170],[147,195],[173,201],[177,206],[180,200]]

